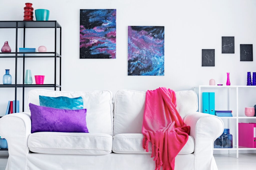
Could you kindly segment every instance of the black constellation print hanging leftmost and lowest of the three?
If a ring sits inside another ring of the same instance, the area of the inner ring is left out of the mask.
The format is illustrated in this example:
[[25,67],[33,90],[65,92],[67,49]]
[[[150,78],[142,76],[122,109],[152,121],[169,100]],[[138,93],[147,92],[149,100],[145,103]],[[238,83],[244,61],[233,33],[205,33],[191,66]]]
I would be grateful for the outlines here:
[[215,66],[215,49],[202,49],[202,66]]

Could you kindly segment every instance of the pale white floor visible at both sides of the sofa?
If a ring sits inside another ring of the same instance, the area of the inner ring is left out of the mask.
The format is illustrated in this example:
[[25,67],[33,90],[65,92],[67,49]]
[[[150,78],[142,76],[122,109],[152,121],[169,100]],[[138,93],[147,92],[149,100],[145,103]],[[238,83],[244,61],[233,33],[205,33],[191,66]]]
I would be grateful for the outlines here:
[[[256,153],[239,154],[214,154],[219,170],[255,170]],[[0,170],[4,170],[7,164],[8,155],[0,155]]]

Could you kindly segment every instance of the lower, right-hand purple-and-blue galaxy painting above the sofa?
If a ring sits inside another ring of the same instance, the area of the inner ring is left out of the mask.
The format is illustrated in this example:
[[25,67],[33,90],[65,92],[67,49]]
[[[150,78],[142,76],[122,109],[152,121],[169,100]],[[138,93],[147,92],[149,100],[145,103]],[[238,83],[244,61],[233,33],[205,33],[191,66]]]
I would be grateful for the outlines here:
[[128,26],[128,75],[164,75],[163,26]]

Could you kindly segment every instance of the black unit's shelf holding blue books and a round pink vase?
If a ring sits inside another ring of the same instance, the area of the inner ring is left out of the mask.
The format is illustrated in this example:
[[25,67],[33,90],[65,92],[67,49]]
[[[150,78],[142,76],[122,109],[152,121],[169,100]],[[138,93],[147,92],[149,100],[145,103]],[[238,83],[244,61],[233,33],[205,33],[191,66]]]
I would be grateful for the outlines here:
[[[16,53],[0,53],[0,58],[15,58]],[[18,58],[23,58],[23,57],[55,57],[55,52],[18,52],[17,53]],[[58,53],[56,53],[56,57],[61,57]]]

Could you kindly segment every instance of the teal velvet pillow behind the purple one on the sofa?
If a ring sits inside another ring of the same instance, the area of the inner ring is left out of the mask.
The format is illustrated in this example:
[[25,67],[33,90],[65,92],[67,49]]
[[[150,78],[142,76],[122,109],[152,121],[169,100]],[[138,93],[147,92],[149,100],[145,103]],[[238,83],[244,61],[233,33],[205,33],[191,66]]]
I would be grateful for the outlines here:
[[83,109],[82,97],[69,98],[69,97],[48,97],[39,95],[40,106],[51,107],[56,109]]

